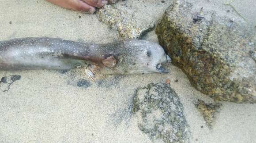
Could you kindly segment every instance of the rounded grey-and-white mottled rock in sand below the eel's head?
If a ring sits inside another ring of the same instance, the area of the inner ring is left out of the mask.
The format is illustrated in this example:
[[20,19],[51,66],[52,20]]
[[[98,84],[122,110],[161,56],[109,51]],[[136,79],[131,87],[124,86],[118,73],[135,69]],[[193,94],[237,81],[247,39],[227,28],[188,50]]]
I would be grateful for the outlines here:
[[188,143],[189,128],[175,91],[165,83],[151,83],[138,88],[134,97],[133,113],[139,129],[152,140],[165,143]]

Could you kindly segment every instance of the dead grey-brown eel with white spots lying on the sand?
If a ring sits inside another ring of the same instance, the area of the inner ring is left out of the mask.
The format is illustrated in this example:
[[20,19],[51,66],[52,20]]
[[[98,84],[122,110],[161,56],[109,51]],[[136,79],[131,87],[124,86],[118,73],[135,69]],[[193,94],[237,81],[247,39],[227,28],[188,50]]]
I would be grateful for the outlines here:
[[103,75],[167,73],[169,62],[158,43],[126,40],[119,43],[90,44],[65,39],[38,37],[0,41],[0,70],[88,67]]

